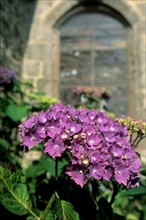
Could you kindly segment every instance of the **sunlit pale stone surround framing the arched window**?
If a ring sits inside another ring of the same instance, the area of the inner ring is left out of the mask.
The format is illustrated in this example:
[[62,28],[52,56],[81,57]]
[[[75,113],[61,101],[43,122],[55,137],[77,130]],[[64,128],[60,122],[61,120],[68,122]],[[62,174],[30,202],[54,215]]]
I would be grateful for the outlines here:
[[[59,97],[59,32],[54,28],[79,1],[38,1],[23,60],[22,78],[33,81],[36,89]],[[133,0],[103,0],[103,4],[118,11],[131,24],[129,33],[129,114],[145,118],[145,48],[144,22]],[[137,35],[137,33],[139,33]]]

